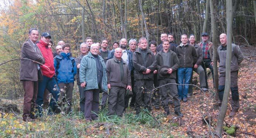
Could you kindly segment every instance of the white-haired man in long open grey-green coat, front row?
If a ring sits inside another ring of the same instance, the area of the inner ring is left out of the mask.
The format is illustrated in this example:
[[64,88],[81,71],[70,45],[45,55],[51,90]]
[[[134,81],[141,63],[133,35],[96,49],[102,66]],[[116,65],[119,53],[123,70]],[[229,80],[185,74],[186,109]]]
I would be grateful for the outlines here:
[[[99,112],[99,92],[107,91],[106,64],[99,53],[99,45],[92,44],[79,69],[81,87],[85,91],[85,119],[96,120]],[[93,112],[93,113],[92,113]]]

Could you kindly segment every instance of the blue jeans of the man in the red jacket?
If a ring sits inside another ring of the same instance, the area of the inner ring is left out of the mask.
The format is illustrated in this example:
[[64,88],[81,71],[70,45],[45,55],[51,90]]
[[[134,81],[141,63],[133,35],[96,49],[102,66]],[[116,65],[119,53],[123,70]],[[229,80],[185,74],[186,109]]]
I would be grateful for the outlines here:
[[54,77],[49,78],[43,75],[43,80],[41,82],[38,82],[38,93],[37,93],[37,100],[35,101],[37,104],[37,110],[39,112],[39,116],[42,116],[42,105],[44,102],[44,90],[48,89],[48,91],[52,94],[49,107],[50,111],[49,113],[55,112],[56,106],[57,106],[57,101],[59,98],[59,86],[55,80]]

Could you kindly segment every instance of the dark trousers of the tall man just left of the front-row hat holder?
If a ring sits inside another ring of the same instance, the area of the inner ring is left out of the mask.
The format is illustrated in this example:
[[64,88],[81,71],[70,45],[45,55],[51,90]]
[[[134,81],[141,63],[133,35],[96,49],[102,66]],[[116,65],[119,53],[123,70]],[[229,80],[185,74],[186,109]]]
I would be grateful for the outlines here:
[[135,104],[135,110],[136,114],[140,113],[140,107],[143,104],[143,99],[144,99],[144,107],[148,110],[151,111],[151,91],[153,90],[153,80],[149,79],[144,79],[144,80],[139,80],[135,81],[135,92],[136,92],[136,104]]

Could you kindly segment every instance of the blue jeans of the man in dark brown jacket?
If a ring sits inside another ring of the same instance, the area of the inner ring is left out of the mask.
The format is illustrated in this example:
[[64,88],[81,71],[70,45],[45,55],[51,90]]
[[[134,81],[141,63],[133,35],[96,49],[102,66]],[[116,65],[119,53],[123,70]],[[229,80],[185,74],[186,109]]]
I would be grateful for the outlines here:
[[[190,84],[192,68],[178,68],[178,84]],[[178,85],[178,95],[187,98],[189,85]]]

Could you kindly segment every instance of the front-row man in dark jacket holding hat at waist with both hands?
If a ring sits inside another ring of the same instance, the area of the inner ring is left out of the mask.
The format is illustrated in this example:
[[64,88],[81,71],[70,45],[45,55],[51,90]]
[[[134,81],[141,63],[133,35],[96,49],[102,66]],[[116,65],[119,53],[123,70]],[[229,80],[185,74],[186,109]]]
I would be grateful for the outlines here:
[[[168,95],[167,89],[170,89],[171,96],[173,96],[174,112],[178,117],[182,117],[183,114],[180,112],[180,100],[178,99],[178,91],[175,85],[176,81],[176,70],[180,65],[180,61],[177,54],[169,49],[170,44],[168,40],[163,41],[163,50],[157,53],[156,61],[154,66],[158,69],[158,80],[161,89],[162,101],[164,106],[165,115],[170,114],[168,106]],[[172,83],[172,84],[169,84]],[[165,85],[169,84],[169,85]],[[162,86],[165,85],[165,86]]]

